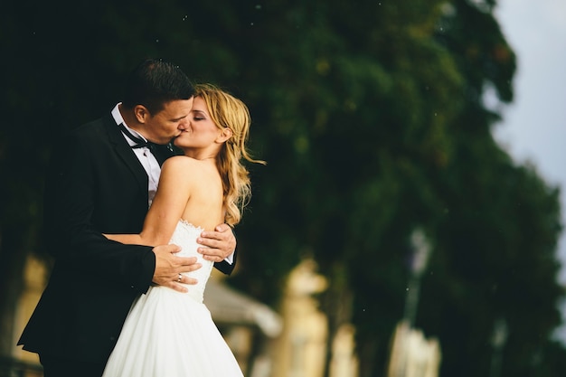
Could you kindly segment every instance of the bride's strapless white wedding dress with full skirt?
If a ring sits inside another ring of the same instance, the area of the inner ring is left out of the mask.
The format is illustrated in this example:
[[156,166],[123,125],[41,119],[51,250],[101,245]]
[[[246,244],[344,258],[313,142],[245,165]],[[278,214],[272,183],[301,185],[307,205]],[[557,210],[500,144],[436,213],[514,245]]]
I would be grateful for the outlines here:
[[203,304],[213,263],[197,249],[200,228],[179,221],[169,243],[183,248],[179,256],[197,257],[203,267],[189,273],[196,285],[188,293],[150,287],[134,302],[108,359],[103,377],[241,377],[228,344]]

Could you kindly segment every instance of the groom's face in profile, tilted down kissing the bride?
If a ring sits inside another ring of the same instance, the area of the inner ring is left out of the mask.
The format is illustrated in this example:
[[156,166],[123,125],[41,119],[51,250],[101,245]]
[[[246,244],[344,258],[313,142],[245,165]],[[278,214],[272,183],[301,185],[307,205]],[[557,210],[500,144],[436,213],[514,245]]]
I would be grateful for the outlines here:
[[157,144],[167,144],[173,137],[179,136],[181,129],[188,122],[188,115],[193,107],[193,98],[175,99],[165,103],[165,107],[146,118],[146,138]]

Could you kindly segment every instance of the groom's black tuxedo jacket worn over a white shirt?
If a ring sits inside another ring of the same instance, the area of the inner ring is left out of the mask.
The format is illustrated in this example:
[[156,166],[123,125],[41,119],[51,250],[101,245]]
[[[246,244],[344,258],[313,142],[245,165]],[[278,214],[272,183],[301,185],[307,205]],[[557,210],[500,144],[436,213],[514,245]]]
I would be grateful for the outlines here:
[[[172,156],[165,146],[155,155]],[[44,247],[52,275],[18,344],[76,361],[105,363],[129,307],[151,285],[151,247],[101,233],[138,233],[146,217],[147,174],[114,119],[78,127],[53,151],[44,194]],[[231,273],[233,264],[216,264]]]

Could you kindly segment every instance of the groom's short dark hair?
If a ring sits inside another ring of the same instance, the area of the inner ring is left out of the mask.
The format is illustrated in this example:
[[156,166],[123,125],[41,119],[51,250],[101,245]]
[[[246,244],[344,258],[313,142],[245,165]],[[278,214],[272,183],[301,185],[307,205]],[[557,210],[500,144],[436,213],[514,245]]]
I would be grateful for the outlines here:
[[151,114],[175,99],[190,99],[193,84],[178,66],[161,59],[142,61],[126,80],[122,104],[126,108],[143,105]]

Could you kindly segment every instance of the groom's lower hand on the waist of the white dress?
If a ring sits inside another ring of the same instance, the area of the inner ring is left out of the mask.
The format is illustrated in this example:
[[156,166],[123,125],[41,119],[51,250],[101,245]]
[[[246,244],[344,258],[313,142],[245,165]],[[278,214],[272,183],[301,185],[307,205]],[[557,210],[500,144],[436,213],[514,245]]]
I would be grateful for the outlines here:
[[197,281],[181,273],[200,269],[202,265],[196,262],[196,257],[177,257],[175,254],[179,251],[181,248],[177,245],[162,245],[153,249],[156,254],[156,270],[152,281],[159,286],[187,292],[188,289],[180,283],[196,284]]

